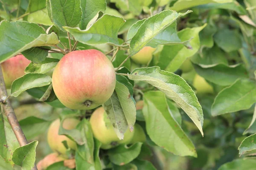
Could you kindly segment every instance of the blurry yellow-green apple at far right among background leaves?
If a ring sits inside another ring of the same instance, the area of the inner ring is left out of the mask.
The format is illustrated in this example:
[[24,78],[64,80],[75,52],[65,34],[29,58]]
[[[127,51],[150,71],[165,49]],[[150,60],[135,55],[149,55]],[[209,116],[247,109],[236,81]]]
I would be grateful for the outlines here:
[[195,75],[195,78],[193,80],[193,86],[195,87],[198,94],[213,93],[212,86],[209,85],[204,77],[201,77],[198,74]]

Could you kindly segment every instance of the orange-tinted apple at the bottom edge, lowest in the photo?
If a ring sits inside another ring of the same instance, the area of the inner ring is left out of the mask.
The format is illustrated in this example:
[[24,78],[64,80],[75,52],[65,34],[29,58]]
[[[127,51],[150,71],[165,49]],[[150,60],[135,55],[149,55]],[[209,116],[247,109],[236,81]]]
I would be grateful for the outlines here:
[[51,164],[56,162],[64,161],[64,158],[58,156],[58,153],[51,153],[44,157],[41,161],[36,165],[38,170],[46,170]]

